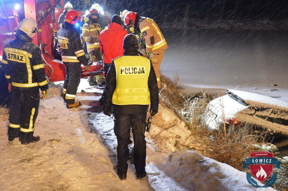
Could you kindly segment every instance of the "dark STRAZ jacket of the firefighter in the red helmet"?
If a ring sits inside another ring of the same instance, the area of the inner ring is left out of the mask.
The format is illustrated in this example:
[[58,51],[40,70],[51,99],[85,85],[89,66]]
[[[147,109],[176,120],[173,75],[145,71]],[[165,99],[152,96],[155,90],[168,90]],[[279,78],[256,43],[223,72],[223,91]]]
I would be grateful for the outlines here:
[[62,28],[57,33],[58,50],[61,52],[63,63],[87,65],[88,61],[81,44],[80,34],[74,25],[63,22]]

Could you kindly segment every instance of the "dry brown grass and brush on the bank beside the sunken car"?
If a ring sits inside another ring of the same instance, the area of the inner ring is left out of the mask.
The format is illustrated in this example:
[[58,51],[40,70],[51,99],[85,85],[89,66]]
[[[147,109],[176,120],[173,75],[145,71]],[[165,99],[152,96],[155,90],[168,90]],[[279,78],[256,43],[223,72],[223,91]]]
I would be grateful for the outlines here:
[[209,101],[216,96],[205,92],[184,95],[183,89],[177,86],[178,76],[173,81],[163,75],[160,78],[164,86],[160,89],[161,104],[186,122],[187,128],[192,131],[191,136],[196,140],[194,145],[179,144],[177,147],[197,150],[204,156],[241,170],[242,161],[255,149],[252,144],[263,142],[266,133],[254,132],[249,124],[222,126],[221,130],[209,131],[203,123],[203,113]]

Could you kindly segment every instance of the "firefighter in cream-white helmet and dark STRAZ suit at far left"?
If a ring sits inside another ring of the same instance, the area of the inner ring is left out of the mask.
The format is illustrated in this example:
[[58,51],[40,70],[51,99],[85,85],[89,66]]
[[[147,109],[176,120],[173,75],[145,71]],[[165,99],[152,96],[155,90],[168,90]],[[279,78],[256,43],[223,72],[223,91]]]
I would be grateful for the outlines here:
[[39,88],[42,98],[47,94],[48,83],[40,48],[32,43],[37,32],[36,21],[24,19],[15,29],[16,39],[4,45],[2,67],[11,91],[8,140],[19,137],[22,145],[35,143],[34,123],[39,108]]

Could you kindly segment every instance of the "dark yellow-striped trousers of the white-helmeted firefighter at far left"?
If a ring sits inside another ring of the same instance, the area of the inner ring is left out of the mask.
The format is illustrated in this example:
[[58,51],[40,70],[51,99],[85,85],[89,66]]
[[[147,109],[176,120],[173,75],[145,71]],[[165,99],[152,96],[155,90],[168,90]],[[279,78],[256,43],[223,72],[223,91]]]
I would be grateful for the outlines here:
[[20,137],[20,140],[24,141],[32,138],[38,115],[39,98],[39,89],[18,90],[12,86],[9,136]]

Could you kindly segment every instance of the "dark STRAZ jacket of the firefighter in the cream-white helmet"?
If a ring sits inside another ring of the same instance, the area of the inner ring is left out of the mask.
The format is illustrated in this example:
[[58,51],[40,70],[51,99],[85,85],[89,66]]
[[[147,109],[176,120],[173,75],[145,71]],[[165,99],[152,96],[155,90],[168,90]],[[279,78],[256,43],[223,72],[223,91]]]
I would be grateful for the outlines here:
[[4,45],[2,67],[8,83],[19,90],[48,89],[40,48],[17,30],[16,39]]

